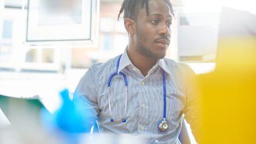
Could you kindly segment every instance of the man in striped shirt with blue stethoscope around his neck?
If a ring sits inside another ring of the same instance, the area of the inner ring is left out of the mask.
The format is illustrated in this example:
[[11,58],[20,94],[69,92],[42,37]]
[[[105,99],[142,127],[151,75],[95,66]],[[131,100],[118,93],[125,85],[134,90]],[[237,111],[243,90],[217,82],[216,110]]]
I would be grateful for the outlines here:
[[127,49],[106,63],[92,65],[74,99],[83,99],[99,116],[101,133],[141,134],[152,142],[180,143],[183,113],[194,129],[197,111],[189,79],[193,71],[164,58],[173,7],[169,0],[125,0],[119,15],[123,11]]

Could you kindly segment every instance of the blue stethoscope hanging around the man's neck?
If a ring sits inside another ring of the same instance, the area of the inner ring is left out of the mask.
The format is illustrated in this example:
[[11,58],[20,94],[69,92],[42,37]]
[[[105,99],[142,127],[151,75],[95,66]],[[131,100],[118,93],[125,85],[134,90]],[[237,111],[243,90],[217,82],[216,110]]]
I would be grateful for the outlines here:
[[[107,87],[108,87],[108,93],[109,93],[109,112],[110,112],[110,115],[111,115],[110,121],[111,122],[123,122],[123,123],[125,123],[126,122],[125,114],[126,114],[126,109],[127,109],[127,85],[128,85],[128,82],[127,82],[127,77],[126,77],[125,73],[122,73],[121,71],[118,72],[121,57],[122,57],[122,55],[120,55],[118,60],[117,60],[117,69],[116,69],[116,71],[114,73],[112,73],[109,77]],[[116,75],[122,75],[123,76],[123,81],[125,83],[125,111],[123,112],[123,117],[121,117],[121,119],[116,119],[115,117],[113,117],[113,113],[111,112],[111,102],[110,102],[111,81],[113,79],[122,79],[120,77],[115,77]],[[164,71],[163,71],[163,119],[161,119],[161,121],[158,122],[157,128],[161,132],[165,132],[169,128],[169,123],[166,120],[166,87],[165,87],[165,72]]]

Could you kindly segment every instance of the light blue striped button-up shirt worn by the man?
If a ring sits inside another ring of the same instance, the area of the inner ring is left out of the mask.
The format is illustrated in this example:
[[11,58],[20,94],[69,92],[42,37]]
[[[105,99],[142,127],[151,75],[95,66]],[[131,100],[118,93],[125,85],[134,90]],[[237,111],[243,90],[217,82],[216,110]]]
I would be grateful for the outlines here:
[[[119,57],[119,56],[118,56]],[[176,63],[171,59],[159,59],[144,77],[130,61],[124,51],[118,71],[125,73],[128,81],[127,111],[125,123],[111,122],[107,83],[116,71],[115,57],[106,63],[95,63],[79,81],[74,99],[86,101],[88,109],[99,116],[100,133],[131,133],[144,135],[158,143],[180,143],[182,115],[192,124],[197,118],[195,95],[191,78],[195,73],[189,66]],[[166,117],[169,129],[160,132],[157,125],[163,119],[163,77],[166,79]],[[121,118],[125,111],[125,87],[122,79],[111,83],[111,112],[113,117]]]

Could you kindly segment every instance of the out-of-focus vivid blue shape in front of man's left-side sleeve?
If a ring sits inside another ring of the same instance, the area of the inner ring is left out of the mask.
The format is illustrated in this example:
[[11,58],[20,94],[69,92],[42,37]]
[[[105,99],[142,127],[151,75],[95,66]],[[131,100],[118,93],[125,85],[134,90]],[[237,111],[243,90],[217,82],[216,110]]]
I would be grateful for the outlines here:
[[50,131],[60,131],[69,134],[91,133],[91,128],[94,126],[94,131],[97,130],[97,115],[93,111],[86,109],[85,101],[83,103],[79,100],[72,101],[69,98],[69,90],[64,89],[60,92],[63,104],[53,113],[47,115],[42,113],[43,123]]

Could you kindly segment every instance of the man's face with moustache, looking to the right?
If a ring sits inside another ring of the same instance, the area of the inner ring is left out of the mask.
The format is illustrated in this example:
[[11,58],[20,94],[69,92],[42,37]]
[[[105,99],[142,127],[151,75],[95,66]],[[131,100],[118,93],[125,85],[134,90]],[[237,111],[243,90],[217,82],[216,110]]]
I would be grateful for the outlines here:
[[171,10],[163,0],[149,1],[149,15],[145,6],[136,22],[137,52],[152,59],[162,59],[170,43]]

